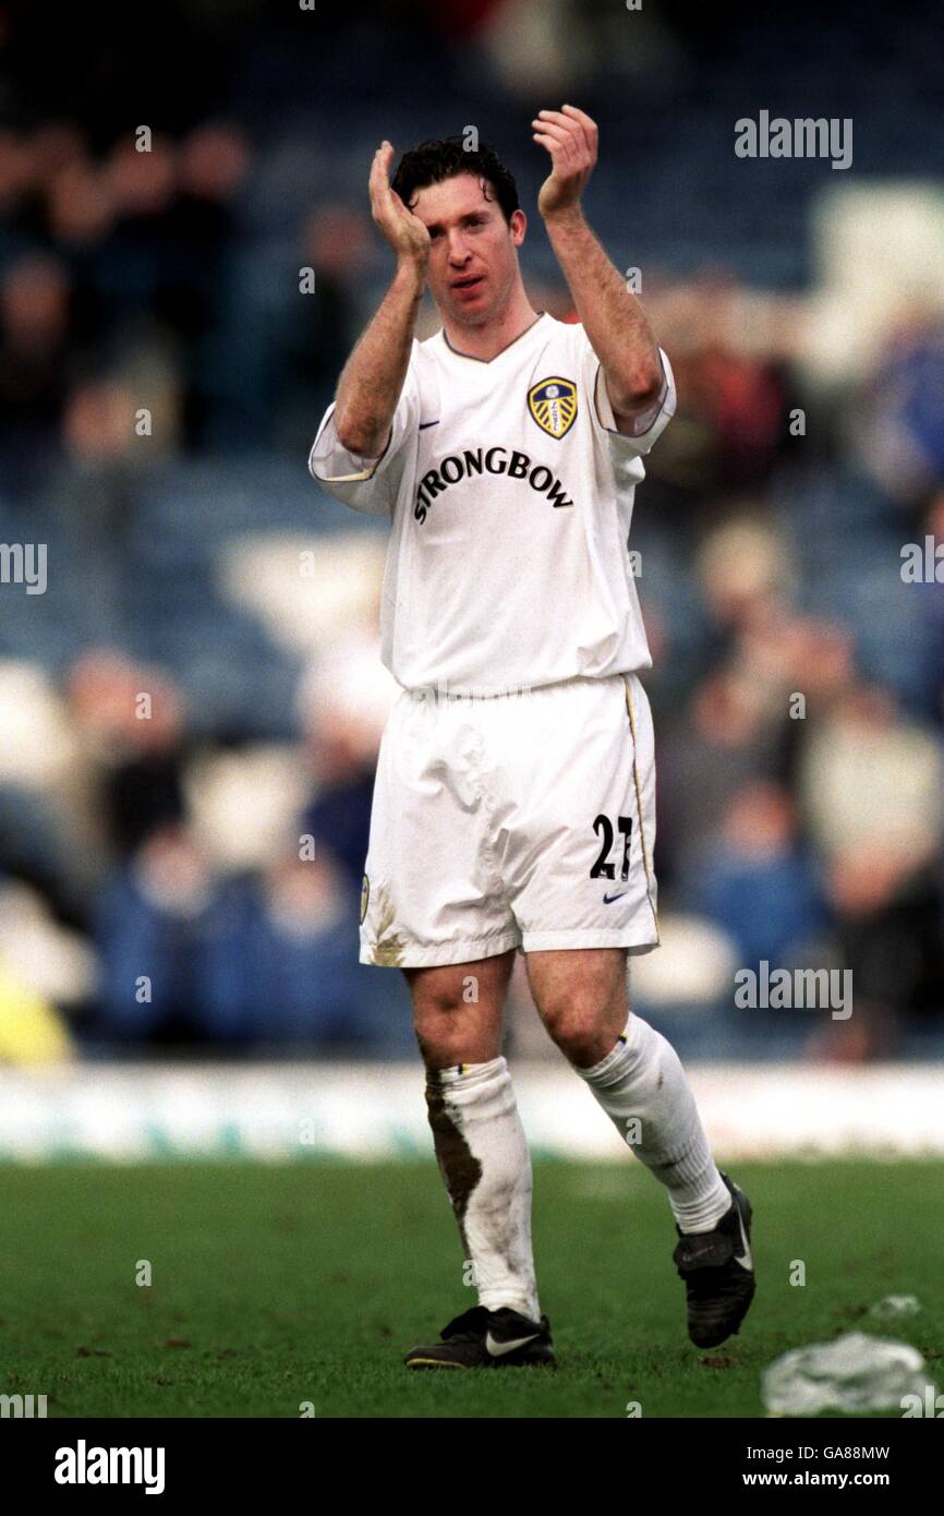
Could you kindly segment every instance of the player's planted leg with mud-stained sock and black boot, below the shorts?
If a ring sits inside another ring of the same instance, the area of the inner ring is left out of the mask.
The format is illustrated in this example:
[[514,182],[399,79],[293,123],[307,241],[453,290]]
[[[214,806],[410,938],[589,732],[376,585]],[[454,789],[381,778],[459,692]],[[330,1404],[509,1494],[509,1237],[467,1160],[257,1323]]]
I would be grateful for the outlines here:
[[441,1343],[411,1351],[411,1367],[553,1363],[530,1245],[530,1155],[502,1057],[514,958],[403,970],[436,1161],[479,1292]]

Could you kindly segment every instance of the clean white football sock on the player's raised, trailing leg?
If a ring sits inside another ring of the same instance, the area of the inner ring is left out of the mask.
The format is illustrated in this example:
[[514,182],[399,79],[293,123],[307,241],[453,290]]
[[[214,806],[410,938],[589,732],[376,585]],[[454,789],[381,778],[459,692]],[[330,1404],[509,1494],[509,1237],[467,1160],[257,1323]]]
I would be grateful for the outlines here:
[[662,1032],[630,1014],[612,1052],[576,1072],[623,1142],[665,1186],[682,1231],[714,1231],[730,1210],[730,1192],[715,1169],[679,1055]]

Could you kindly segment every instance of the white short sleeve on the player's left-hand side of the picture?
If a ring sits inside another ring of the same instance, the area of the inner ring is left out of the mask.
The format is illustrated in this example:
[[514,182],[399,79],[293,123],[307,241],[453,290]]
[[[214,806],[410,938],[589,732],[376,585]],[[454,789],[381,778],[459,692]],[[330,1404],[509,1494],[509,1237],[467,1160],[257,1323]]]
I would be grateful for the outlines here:
[[[415,352],[414,343],[414,352]],[[379,458],[361,458],[341,446],[335,428],[335,403],[321,418],[318,435],[308,455],[312,479],[324,485],[344,505],[370,515],[391,515],[400,488],[409,444],[417,437],[420,418],[417,382],[411,367],[397,400],[389,440]]]

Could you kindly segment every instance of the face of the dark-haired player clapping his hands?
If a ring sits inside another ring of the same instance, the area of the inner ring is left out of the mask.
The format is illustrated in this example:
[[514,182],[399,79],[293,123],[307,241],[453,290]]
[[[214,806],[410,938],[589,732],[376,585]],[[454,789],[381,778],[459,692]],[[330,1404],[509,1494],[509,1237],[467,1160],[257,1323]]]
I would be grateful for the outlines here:
[[430,294],[456,326],[500,317],[518,277],[524,212],[515,211],[509,224],[491,185],[488,200],[482,186],[474,174],[456,174],[418,190],[411,206],[430,236]]

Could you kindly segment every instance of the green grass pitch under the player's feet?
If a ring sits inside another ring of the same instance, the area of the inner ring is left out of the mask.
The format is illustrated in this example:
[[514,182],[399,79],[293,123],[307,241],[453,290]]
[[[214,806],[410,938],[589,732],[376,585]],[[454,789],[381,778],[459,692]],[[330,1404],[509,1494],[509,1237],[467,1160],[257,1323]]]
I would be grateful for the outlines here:
[[[559,1370],[409,1373],[403,1351],[474,1304],[432,1161],[0,1167],[0,1393],[45,1393],[50,1416],[299,1416],[303,1401],[320,1417],[623,1417],[627,1401],[645,1417],[762,1416],[767,1363],[861,1326],[912,1342],[944,1381],[944,1164],[735,1176],[755,1205],[759,1287],[741,1336],[712,1354],[685,1336],[650,1175],[536,1163]],[[864,1316],[889,1293],[924,1310]]]

